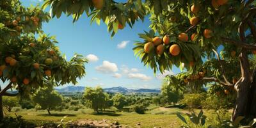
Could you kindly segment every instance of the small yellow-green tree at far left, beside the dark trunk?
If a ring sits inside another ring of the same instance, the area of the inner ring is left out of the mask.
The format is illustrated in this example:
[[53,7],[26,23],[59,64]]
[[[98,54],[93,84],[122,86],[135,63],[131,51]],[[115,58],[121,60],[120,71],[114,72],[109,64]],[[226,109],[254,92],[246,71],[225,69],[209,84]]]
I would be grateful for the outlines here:
[[17,97],[3,97],[3,106],[9,111],[12,111],[12,108],[18,105],[19,100]]

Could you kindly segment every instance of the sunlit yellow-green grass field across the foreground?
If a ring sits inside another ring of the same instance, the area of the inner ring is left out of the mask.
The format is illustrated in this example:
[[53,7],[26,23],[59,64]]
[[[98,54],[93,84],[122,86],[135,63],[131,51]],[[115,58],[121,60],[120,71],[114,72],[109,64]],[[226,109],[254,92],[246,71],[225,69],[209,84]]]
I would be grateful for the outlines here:
[[[109,111],[109,110],[108,110]],[[196,110],[197,112],[199,110]],[[186,113],[188,111],[178,108],[156,108],[152,107],[146,114],[140,115],[137,113],[126,113],[126,112],[104,112],[102,114],[93,113],[92,109],[79,109],[79,111],[52,111],[52,115],[48,115],[47,111],[40,110],[35,111],[24,110],[15,112],[17,115],[21,115],[24,119],[29,122],[34,122],[37,125],[42,125],[48,122],[58,123],[67,115],[65,120],[108,120],[111,122],[119,122],[122,125],[129,125],[136,127],[136,124],[140,123],[141,127],[179,127],[182,122],[177,118],[176,113]],[[8,113],[9,116],[15,116],[14,112]],[[204,110],[206,116],[214,116],[214,111]]]

